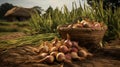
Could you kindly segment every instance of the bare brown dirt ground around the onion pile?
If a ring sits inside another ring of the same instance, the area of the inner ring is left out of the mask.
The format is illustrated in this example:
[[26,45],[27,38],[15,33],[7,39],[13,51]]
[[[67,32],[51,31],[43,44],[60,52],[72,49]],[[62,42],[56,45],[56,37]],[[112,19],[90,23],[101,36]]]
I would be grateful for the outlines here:
[[[17,37],[23,36],[24,34],[15,33]],[[2,36],[0,39],[11,39],[17,38],[13,34],[7,38],[7,36]],[[120,67],[120,48],[114,46],[120,46],[120,39],[113,40],[108,43],[106,48],[93,50],[93,57],[87,58],[82,61],[73,60],[72,63],[58,63],[44,64],[38,61],[39,59],[34,59],[38,53],[33,52],[33,46],[21,46],[16,48],[11,48],[8,50],[0,49],[0,67]],[[32,47],[32,48],[30,48]]]

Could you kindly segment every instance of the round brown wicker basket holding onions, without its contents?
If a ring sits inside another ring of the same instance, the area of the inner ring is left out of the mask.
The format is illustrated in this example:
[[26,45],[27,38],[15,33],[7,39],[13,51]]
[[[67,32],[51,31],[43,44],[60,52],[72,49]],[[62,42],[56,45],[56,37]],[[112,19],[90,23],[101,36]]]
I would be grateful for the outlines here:
[[58,32],[63,39],[66,39],[66,35],[70,35],[70,39],[74,41],[79,41],[82,44],[94,43],[98,44],[102,41],[107,26],[104,25],[103,28],[68,28],[68,25],[58,26]]

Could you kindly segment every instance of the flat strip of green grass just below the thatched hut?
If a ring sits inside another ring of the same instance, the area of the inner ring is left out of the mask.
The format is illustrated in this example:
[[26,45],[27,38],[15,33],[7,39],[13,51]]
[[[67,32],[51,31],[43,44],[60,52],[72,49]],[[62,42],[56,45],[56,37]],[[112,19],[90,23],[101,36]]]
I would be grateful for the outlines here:
[[29,28],[29,22],[7,22],[0,21],[0,32],[21,32],[25,28]]

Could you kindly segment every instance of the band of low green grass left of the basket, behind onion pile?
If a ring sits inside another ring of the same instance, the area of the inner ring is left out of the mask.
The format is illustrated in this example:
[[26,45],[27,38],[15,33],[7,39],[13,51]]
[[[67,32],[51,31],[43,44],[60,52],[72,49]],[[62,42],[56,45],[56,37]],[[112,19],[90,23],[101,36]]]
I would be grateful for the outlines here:
[[40,45],[42,41],[50,41],[54,39],[55,36],[58,35],[55,33],[44,33],[33,36],[24,36],[17,39],[2,40],[0,41],[0,48],[9,49],[23,45]]

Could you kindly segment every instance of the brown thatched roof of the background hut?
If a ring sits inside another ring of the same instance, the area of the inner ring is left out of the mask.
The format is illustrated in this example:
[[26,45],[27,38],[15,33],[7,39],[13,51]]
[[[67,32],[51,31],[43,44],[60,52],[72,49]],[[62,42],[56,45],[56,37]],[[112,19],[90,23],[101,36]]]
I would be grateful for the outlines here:
[[30,8],[22,8],[22,7],[13,7],[12,9],[8,10],[5,16],[25,16],[30,17],[34,10]]

